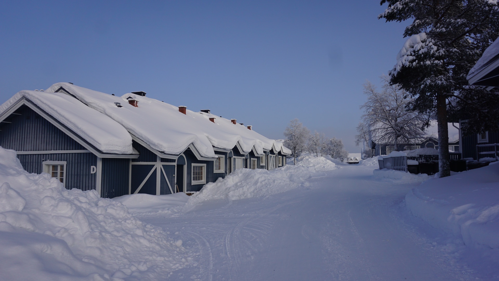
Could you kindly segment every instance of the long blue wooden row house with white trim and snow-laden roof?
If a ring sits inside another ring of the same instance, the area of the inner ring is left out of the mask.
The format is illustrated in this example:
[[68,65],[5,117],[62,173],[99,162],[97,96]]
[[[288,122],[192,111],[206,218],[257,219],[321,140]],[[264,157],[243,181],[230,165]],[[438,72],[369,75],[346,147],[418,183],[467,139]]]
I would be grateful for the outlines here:
[[235,169],[272,169],[289,149],[210,110],[56,83],[0,106],[0,146],[29,172],[102,197],[199,191]]

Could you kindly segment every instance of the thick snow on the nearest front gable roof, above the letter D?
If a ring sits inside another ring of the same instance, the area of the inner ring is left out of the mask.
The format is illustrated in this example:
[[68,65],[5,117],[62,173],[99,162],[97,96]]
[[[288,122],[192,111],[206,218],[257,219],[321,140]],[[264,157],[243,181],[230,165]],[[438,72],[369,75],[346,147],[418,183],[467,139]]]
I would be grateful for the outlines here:
[[104,153],[131,154],[132,138],[115,120],[64,93],[22,90],[0,105],[0,114],[27,98]]

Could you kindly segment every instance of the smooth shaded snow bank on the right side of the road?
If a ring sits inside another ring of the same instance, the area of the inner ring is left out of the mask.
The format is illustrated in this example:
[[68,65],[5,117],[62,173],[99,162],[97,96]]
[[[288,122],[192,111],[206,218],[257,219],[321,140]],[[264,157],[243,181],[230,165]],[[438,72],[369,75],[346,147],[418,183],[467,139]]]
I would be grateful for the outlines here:
[[461,236],[468,246],[499,248],[499,165],[432,179],[406,195],[411,213]]

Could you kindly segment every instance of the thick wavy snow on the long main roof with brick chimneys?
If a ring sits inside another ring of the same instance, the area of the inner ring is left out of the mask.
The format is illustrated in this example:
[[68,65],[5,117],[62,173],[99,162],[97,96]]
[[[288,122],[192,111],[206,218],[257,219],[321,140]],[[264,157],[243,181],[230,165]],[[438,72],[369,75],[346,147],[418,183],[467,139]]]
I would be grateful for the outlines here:
[[[123,125],[130,133],[152,148],[167,154],[180,154],[191,143],[204,157],[216,157],[213,146],[232,149],[239,142],[244,152],[254,147],[258,154],[263,149],[281,149],[282,141],[266,138],[241,124],[204,112],[179,112],[178,106],[154,98],[127,93],[115,96],[69,83],[56,83],[46,91],[63,87],[88,106],[106,114]],[[138,107],[128,103],[127,97],[138,101]],[[117,107],[120,102],[122,107]],[[215,117],[215,123],[209,120]],[[284,152],[289,149],[282,148]]]

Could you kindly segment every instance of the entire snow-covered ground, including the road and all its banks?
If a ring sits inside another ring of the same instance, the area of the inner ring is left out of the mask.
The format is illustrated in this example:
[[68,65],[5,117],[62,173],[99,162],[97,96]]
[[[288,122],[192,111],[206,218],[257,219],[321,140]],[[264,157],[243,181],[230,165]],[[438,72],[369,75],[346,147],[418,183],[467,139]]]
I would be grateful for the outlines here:
[[193,196],[101,199],[0,154],[2,280],[499,277],[499,165],[435,179],[305,155]]

